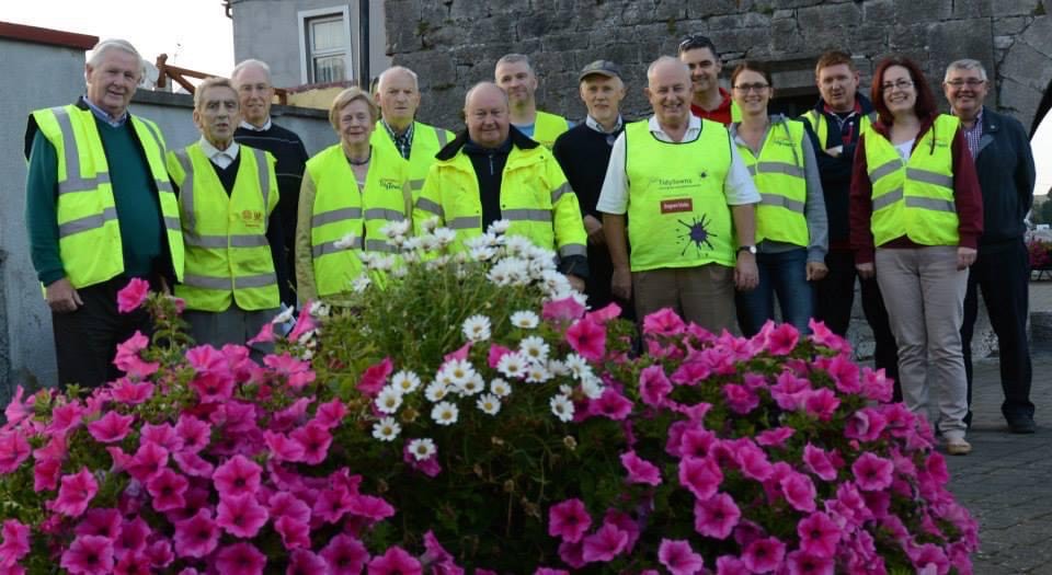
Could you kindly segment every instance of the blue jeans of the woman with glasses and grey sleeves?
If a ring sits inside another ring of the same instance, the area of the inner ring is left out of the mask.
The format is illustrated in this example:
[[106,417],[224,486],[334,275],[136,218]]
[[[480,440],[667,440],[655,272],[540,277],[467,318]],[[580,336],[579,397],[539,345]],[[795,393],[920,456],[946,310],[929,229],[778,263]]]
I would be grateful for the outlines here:
[[737,292],[737,323],[746,336],[756,335],[767,320],[775,319],[775,295],[781,308],[781,321],[800,333],[811,333],[808,320],[814,315],[814,295],[808,283],[808,250],[756,254],[759,285]]

